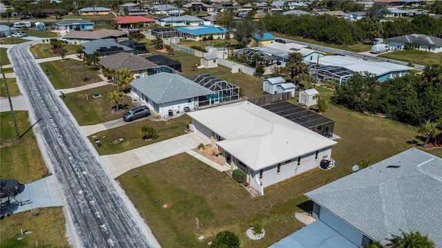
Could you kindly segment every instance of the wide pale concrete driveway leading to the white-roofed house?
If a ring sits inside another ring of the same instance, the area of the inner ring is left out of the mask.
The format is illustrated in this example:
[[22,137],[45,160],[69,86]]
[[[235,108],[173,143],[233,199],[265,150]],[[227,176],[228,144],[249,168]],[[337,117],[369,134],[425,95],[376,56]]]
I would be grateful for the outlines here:
[[102,155],[100,160],[112,178],[131,169],[149,164],[173,155],[184,153],[198,147],[198,144],[210,144],[199,133],[188,133],[169,140],[143,146],[124,153]]

